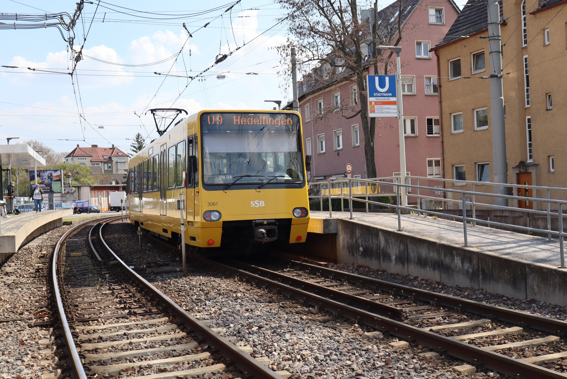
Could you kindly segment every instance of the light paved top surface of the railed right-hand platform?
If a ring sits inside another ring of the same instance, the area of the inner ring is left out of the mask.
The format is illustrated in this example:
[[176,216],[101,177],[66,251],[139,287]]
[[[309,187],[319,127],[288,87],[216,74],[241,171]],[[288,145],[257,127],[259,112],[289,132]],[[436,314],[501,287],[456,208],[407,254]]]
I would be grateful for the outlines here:
[[[329,212],[312,211],[311,217],[329,218]],[[349,217],[349,212],[333,211],[333,218],[348,219]],[[397,231],[397,214],[355,212],[353,220]],[[497,253],[503,257],[543,263],[553,267],[560,266],[559,241],[557,239],[548,241],[544,237],[478,225],[476,227],[472,227],[470,224],[467,226],[469,248]],[[434,220],[431,217],[417,215],[401,215],[401,227],[403,232],[413,236],[464,246],[462,222]]]

